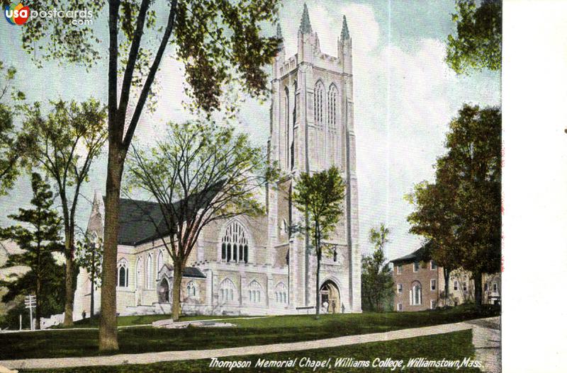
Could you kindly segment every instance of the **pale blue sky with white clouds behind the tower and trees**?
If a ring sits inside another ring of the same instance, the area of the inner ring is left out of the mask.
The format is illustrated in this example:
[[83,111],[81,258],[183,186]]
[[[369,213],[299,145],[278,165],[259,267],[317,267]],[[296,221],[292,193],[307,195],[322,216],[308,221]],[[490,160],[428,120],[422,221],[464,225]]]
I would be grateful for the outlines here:
[[[478,71],[456,76],[444,63],[444,43],[452,33],[454,0],[447,1],[305,1],[321,49],[336,54],[342,16],[347,16],[353,40],[354,128],[357,135],[360,244],[371,226],[380,222],[391,229],[386,255],[392,259],[414,251],[422,239],[408,233],[411,212],[403,196],[422,180],[432,180],[432,165],[443,154],[448,123],[463,103],[500,105],[500,74]],[[303,0],[286,0],[280,11],[281,28],[289,56],[296,52]],[[106,20],[96,22],[106,38]],[[38,69],[21,51],[21,28],[0,20],[3,45],[0,59],[18,68],[18,86],[30,101],[63,98],[82,101],[89,96],[106,101],[106,51],[99,64],[81,67],[53,62]],[[266,33],[274,32],[269,26]],[[105,45],[104,42],[102,45]],[[144,115],[137,129],[141,142],[163,133],[169,120],[186,120],[180,65],[171,57],[162,63],[162,87],[157,111]],[[269,136],[269,103],[247,98],[239,115],[242,130],[265,144]],[[104,189],[106,154],[94,163],[91,183],[84,188],[79,222],[86,225],[94,190]],[[0,197],[0,224],[6,215],[30,199],[28,180],[18,181],[13,192]]]

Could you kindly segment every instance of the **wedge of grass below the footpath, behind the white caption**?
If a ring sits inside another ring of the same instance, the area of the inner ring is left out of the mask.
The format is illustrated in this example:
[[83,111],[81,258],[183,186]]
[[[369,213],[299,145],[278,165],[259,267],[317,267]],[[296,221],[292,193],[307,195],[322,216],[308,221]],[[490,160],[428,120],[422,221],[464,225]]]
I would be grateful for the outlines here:
[[[250,361],[252,367],[244,369],[232,369],[232,372],[313,372],[312,368],[293,367],[293,368],[254,368],[259,358],[266,360],[290,360],[302,357],[309,357],[310,360],[327,360],[331,358],[332,365],[335,364],[335,357],[352,357],[354,360],[370,360],[379,357],[382,360],[390,357],[392,360],[404,360],[408,362],[410,358],[425,357],[429,360],[459,360],[466,357],[473,357],[474,348],[472,345],[471,331],[459,331],[455,333],[428,335],[426,337],[408,338],[404,340],[392,340],[389,342],[364,343],[360,345],[342,346],[339,348],[321,348],[317,350],[303,350],[296,352],[279,352],[265,355],[250,355],[240,357],[225,357],[221,361]],[[211,360],[185,360],[178,362],[158,362],[149,365],[120,365],[116,367],[74,367],[67,369],[53,370],[23,370],[21,372],[54,372],[54,373],[196,373],[196,372],[228,372],[228,368],[209,367]],[[297,364],[298,365],[298,364]],[[376,367],[365,368],[335,368],[319,369],[317,372],[391,372],[389,369],[379,369]],[[396,370],[399,372],[399,369]],[[435,368],[410,368],[406,367],[404,372],[456,372],[455,368],[435,369]],[[479,369],[461,368],[458,372],[480,372]]]

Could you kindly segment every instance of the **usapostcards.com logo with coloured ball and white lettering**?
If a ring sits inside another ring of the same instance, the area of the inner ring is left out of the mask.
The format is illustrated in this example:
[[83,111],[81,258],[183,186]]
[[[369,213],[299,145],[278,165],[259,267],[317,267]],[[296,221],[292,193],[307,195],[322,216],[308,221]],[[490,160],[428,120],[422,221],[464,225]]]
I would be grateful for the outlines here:
[[12,25],[23,25],[28,18],[72,18],[73,25],[91,25],[93,23],[92,11],[60,11],[52,9],[49,11],[30,11],[29,6],[23,6],[22,3],[13,3],[6,6],[4,10],[6,20]]

